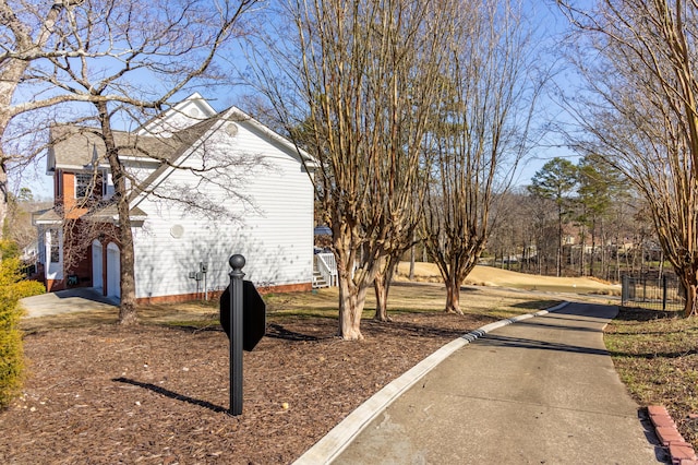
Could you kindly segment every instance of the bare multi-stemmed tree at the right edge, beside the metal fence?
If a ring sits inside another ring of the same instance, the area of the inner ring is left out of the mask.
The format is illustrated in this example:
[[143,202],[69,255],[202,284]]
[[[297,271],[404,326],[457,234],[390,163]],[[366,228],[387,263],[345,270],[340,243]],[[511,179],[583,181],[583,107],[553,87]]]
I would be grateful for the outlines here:
[[[660,243],[698,313],[698,5],[558,2],[577,31],[587,97],[575,106],[581,153],[603,154],[647,201]],[[586,51],[585,51],[586,48]]]

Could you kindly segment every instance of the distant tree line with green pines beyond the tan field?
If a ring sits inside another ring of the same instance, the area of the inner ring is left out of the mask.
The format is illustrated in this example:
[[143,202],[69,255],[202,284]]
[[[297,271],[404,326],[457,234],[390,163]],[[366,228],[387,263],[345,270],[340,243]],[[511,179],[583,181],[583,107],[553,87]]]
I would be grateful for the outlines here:
[[599,155],[553,158],[504,195],[483,257],[490,265],[611,282],[665,271],[642,199]]

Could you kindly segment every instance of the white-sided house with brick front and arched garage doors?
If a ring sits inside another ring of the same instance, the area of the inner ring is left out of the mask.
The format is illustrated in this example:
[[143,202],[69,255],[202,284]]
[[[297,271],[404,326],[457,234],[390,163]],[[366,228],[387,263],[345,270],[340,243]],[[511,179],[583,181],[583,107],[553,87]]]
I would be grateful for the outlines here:
[[[130,147],[120,158],[129,172],[139,301],[222,289],[233,253],[245,257],[245,279],[257,285],[311,288],[312,164],[293,144],[238,108],[217,114],[198,94],[115,139]],[[225,160],[231,163],[222,169]],[[113,180],[94,129],[53,127],[47,174],[53,207],[34,215],[47,288],[120,297]]]

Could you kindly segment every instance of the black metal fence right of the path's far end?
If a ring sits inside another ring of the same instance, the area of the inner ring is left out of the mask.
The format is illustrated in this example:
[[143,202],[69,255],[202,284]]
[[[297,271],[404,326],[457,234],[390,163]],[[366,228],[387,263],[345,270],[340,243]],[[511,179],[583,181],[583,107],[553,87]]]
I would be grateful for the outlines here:
[[682,310],[686,291],[675,276],[623,276],[623,307]]

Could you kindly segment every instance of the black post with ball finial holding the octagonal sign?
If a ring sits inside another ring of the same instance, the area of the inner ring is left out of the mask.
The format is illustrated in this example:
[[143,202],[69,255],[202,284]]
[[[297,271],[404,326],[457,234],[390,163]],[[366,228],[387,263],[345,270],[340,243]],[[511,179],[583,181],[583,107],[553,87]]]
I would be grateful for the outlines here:
[[230,272],[230,414],[242,415],[242,278],[244,257],[228,261]]

